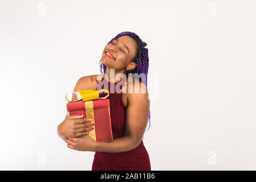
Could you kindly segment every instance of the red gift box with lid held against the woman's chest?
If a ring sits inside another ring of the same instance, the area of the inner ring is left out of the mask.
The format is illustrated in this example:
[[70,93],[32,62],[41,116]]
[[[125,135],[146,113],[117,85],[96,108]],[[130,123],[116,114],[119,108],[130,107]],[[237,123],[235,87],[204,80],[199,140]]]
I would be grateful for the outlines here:
[[67,111],[68,115],[83,114],[83,118],[90,118],[95,129],[88,135],[96,141],[105,142],[113,140],[109,106],[108,99],[68,102]]

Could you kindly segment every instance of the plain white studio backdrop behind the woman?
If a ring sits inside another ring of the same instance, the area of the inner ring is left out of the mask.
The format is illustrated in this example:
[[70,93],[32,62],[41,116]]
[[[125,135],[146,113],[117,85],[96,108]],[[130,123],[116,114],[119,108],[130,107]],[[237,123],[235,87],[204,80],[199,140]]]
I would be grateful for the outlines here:
[[56,134],[123,31],[148,43],[152,170],[256,169],[256,1],[0,0],[0,169],[91,170]]

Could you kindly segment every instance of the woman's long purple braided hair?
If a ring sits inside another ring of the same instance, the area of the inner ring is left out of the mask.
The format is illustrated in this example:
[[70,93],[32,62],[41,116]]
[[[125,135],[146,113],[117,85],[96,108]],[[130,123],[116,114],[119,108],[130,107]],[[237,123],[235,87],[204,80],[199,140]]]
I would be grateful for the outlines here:
[[[125,36],[125,35],[130,36],[131,38],[133,38],[137,42],[137,55],[132,59],[132,62],[136,63],[137,67],[135,69],[131,70],[131,73],[133,73],[133,74],[137,73],[138,75],[140,75],[141,73],[144,73],[144,74],[142,74],[141,79],[139,77],[139,80],[147,86],[147,83],[148,83],[148,63],[149,63],[148,49],[145,48],[145,46],[147,46],[147,43],[143,42],[140,39],[140,37],[138,35],[136,35],[135,33],[133,33],[133,32],[121,32],[120,34],[117,34],[113,39],[111,39],[107,44],[111,43],[112,40],[117,39],[120,36]],[[107,67],[100,60],[100,72],[105,73],[106,68]],[[145,75],[145,77],[144,77],[144,75]],[[150,118],[151,118],[151,113],[150,113],[150,110],[149,110],[149,114],[148,114],[149,127],[151,127]]]

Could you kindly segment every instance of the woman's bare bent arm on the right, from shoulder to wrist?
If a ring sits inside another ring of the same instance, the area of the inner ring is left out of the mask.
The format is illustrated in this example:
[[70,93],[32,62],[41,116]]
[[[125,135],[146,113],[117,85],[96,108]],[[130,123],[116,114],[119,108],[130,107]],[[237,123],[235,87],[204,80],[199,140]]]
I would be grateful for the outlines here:
[[[137,85],[139,93],[135,93]],[[133,84],[133,93],[128,93],[128,106],[125,119],[125,136],[111,142],[96,142],[95,151],[125,152],[139,146],[148,122],[149,97],[144,84]]]

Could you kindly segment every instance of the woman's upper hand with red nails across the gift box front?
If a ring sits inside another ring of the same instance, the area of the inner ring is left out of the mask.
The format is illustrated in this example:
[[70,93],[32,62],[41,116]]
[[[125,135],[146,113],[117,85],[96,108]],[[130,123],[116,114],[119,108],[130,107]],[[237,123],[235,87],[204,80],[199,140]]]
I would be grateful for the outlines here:
[[64,137],[82,137],[92,130],[94,126],[90,119],[82,118],[83,115],[70,115],[58,126],[60,135]]

